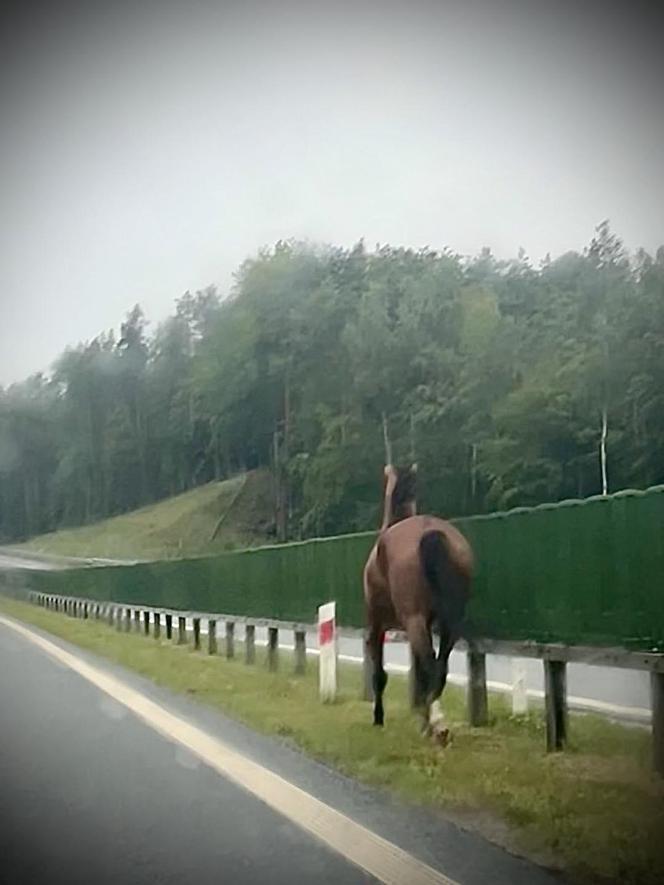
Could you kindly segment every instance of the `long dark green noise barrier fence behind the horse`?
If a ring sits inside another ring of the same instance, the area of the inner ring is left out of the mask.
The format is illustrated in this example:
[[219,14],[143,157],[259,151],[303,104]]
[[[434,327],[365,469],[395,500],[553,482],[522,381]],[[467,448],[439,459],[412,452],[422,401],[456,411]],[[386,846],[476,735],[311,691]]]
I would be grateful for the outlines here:
[[[477,574],[476,636],[664,651],[664,486],[454,520]],[[24,573],[27,589],[130,605],[310,623],[337,602],[364,626],[375,533],[214,557]]]

